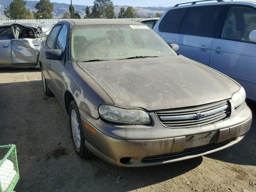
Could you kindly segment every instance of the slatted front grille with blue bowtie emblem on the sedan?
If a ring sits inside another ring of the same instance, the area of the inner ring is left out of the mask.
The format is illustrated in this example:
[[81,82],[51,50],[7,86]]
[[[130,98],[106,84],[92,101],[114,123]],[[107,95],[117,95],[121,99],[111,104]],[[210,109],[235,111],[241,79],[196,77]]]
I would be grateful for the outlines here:
[[228,100],[188,108],[156,111],[160,122],[168,128],[204,126],[226,118],[228,113]]

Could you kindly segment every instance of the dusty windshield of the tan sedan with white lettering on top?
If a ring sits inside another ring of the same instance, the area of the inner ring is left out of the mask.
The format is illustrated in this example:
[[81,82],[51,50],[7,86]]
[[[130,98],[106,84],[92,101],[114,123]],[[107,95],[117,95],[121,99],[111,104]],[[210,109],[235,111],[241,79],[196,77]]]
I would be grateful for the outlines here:
[[70,36],[72,62],[176,56],[144,25],[75,26]]

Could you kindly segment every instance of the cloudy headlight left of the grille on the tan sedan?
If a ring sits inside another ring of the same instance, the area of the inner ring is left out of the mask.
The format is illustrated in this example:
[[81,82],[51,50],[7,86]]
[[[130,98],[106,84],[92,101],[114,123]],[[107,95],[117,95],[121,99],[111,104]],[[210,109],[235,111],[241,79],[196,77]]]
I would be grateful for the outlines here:
[[100,117],[104,120],[121,124],[150,124],[148,113],[141,109],[126,109],[102,104],[99,107]]

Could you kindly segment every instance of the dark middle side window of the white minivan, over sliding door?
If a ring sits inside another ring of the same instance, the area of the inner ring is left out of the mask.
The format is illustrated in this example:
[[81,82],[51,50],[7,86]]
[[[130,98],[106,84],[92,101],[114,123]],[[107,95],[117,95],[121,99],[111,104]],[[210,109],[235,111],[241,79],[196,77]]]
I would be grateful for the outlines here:
[[226,5],[191,7],[184,18],[180,34],[214,37]]

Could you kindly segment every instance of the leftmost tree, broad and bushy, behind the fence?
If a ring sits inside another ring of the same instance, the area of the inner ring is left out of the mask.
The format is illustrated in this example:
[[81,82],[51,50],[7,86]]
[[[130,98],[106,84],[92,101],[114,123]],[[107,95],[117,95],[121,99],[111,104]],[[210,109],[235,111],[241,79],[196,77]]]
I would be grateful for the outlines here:
[[4,8],[4,15],[9,19],[26,19],[30,11],[26,10],[25,5],[24,0],[13,0],[9,6]]

